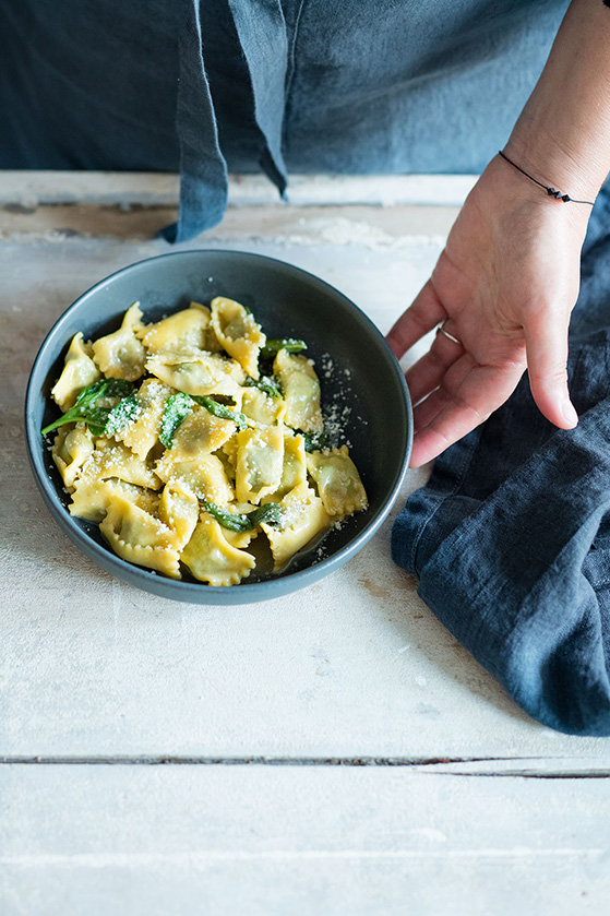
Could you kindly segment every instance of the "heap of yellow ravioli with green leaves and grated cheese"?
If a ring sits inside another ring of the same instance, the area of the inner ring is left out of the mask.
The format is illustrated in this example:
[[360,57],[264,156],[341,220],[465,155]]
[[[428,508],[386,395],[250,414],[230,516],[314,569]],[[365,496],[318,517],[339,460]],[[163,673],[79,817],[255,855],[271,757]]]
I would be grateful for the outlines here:
[[75,334],[52,397],[70,513],[172,579],[238,585],[270,551],[279,574],[368,504],[346,445],[307,451],[324,430],[312,361],[267,342],[234,299],[151,324],[136,302],[93,344]]

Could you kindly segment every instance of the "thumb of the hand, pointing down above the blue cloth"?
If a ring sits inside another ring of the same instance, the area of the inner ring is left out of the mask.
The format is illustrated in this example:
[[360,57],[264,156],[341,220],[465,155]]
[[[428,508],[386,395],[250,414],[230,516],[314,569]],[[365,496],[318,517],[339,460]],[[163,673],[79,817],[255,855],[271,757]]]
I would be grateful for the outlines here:
[[525,328],[531,394],[541,413],[561,429],[572,429],[578,415],[567,390],[567,322],[545,309]]

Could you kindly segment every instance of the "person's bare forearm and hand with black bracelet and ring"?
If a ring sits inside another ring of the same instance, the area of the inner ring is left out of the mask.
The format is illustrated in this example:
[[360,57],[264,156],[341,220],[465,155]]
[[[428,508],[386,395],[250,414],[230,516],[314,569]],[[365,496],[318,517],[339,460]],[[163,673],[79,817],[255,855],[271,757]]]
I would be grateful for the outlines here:
[[[595,200],[610,170],[610,9],[602,0],[573,0],[505,152],[543,183]],[[486,168],[431,278],[387,335],[400,357],[447,319],[462,342],[436,335],[407,372],[417,405],[412,466],[487,419],[525,368],[542,414],[564,429],[576,425],[567,326],[589,215],[590,206],[549,198],[499,156]]]

